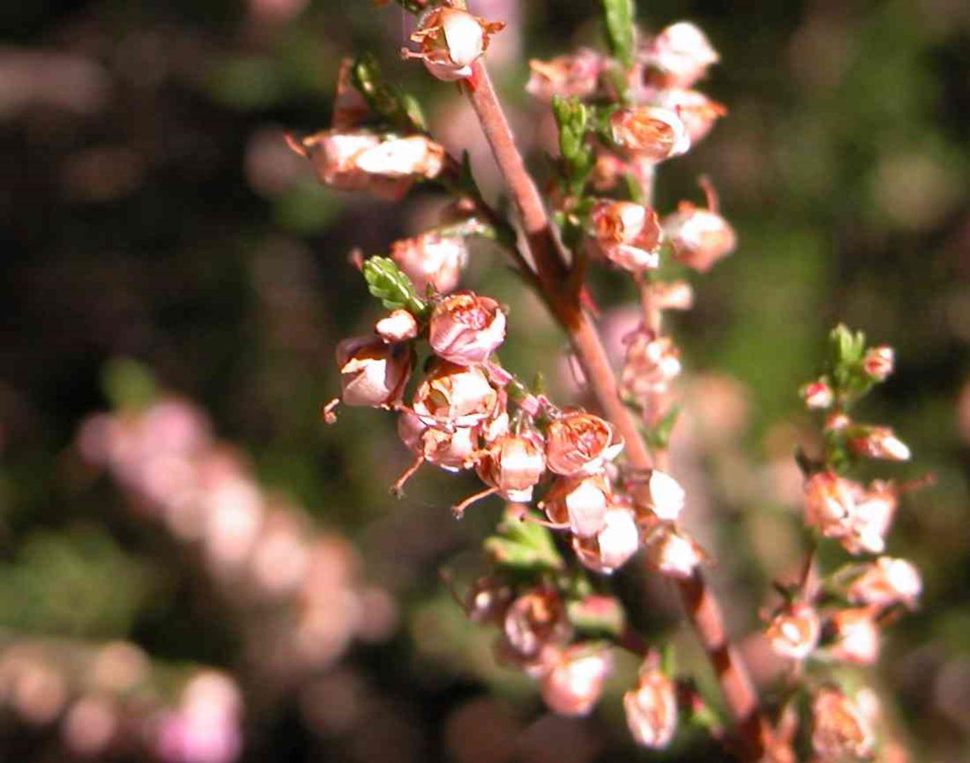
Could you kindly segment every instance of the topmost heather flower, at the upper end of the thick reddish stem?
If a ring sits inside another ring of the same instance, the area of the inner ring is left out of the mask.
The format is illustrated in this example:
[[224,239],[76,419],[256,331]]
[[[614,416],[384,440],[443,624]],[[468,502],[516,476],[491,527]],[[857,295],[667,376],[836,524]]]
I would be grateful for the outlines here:
[[504,26],[501,21],[489,22],[459,8],[437,6],[418,18],[417,30],[411,34],[420,51],[404,48],[401,53],[405,58],[420,58],[437,79],[468,79],[471,64]]

